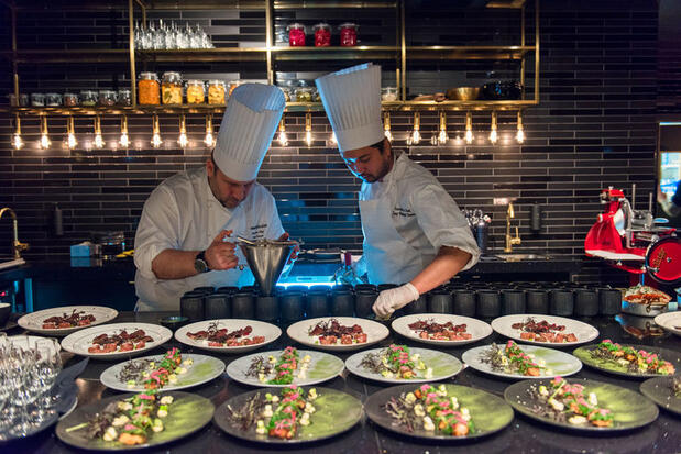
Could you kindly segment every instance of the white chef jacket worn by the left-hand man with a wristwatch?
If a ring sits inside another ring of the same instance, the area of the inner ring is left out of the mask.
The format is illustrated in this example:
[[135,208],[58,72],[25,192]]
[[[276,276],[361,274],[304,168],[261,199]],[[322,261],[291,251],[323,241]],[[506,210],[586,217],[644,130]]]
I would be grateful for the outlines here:
[[[284,228],[274,197],[257,182],[249,196],[234,209],[216,199],[208,186],[206,167],[174,175],[151,193],[135,234],[135,291],[138,310],[179,310],[179,298],[202,286],[248,286],[254,281],[249,268],[201,273],[184,279],[158,279],[152,272],[152,261],[162,251],[205,251],[222,230],[232,230],[232,237],[251,240],[278,239]],[[246,264],[237,247],[239,264]]]

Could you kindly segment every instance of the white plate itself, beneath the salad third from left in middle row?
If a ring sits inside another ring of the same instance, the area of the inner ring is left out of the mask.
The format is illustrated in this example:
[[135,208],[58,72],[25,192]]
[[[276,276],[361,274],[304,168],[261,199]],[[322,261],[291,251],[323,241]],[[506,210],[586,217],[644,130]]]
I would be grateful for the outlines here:
[[432,377],[425,378],[422,374],[425,370],[417,370],[417,378],[387,378],[381,374],[376,374],[374,372],[366,370],[360,364],[362,363],[362,358],[370,353],[381,353],[384,348],[373,348],[367,350],[365,352],[355,353],[345,359],[345,367],[348,370],[353,373],[354,375],[369,378],[371,380],[389,383],[389,384],[405,384],[405,383],[430,383],[430,381],[440,381],[444,380],[449,377],[453,377],[459,374],[463,369],[463,364],[455,356],[452,356],[447,353],[438,352],[436,350],[428,348],[409,348],[409,354],[413,355],[418,353],[421,355],[421,359],[426,364],[426,367],[432,367]]

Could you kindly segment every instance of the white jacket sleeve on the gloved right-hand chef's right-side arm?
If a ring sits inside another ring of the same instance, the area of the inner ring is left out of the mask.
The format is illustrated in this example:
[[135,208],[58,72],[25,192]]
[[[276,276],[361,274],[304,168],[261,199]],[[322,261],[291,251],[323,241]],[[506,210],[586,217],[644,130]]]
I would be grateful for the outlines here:
[[[463,269],[475,265],[480,248],[468,221],[452,197],[438,185],[428,185],[413,195],[414,211],[426,236],[440,251],[442,246],[457,247],[471,254]],[[462,270],[463,270],[462,269]]]

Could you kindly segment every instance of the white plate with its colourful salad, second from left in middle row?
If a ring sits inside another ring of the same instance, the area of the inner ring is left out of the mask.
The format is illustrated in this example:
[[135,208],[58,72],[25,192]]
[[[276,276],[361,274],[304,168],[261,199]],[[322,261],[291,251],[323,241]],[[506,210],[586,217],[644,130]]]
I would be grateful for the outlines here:
[[328,381],[343,368],[343,361],[333,355],[288,346],[234,359],[227,366],[227,374],[244,385],[286,387]]

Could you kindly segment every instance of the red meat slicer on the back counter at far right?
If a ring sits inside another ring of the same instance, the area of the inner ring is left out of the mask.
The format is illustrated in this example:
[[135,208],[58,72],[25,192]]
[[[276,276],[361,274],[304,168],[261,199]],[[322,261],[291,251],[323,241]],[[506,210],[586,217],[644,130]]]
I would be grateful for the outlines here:
[[642,284],[645,274],[660,284],[680,285],[681,239],[675,229],[656,225],[660,220],[652,217],[652,195],[648,210],[636,210],[624,191],[611,186],[601,191],[601,203],[606,209],[586,234],[586,255],[630,273],[633,285]]

